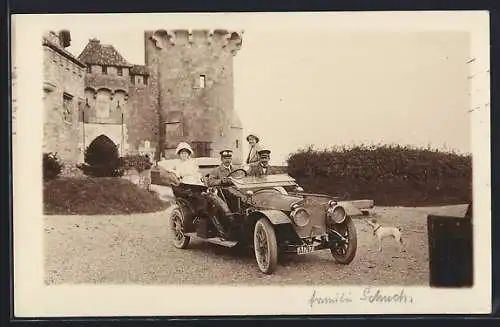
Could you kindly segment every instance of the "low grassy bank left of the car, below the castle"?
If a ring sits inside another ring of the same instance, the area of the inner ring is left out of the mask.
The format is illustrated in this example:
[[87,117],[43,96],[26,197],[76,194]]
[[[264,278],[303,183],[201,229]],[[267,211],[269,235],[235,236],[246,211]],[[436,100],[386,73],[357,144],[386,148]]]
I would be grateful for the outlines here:
[[155,192],[116,177],[57,178],[44,183],[46,215],[121,215],[169,207]]

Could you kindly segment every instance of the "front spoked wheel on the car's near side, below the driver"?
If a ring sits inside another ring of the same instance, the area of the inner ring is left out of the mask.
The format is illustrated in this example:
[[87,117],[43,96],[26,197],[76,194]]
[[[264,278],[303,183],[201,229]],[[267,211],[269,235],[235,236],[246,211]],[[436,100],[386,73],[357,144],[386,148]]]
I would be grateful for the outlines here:
[[274,228],[266,218],[260,218],[255,224],[253,242],[260,271],[272,274],[278,264],[278,242]]

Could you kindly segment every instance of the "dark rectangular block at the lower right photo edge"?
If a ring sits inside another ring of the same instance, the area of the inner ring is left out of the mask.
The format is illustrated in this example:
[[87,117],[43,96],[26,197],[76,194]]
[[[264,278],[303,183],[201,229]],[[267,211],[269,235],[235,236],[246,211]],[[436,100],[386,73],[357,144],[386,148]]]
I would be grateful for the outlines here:
[[[470,207],[469,207],[470,208]],[[427,216],[431,287],[472,287],[474,283],[472,214]]]

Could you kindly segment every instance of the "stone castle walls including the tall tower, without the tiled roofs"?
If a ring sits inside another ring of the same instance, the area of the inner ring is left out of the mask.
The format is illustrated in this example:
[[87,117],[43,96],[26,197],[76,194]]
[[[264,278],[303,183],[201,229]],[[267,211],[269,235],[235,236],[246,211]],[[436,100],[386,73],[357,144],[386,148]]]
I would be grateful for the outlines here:
[[[144,41],[150,74],[144,84],[129,68],[123,68],[123,76],[113,67],[107,74],[100,66],[87,70],[44,46],[44,152],[81,162],[84,149],[104,134],[122,155],[144,151],[148,144],[159,159],[165,153],[171,157],[182,141],[193,147],[211,142],[212,157],[230,148],[235,164],[241,163],[244,137],[233,96],[233,56],[241,46],[241,34],[146,31]],[[69,119],[63,115],[63,94],[72,99]],[[168,135],[166,123],[175,125],[168,125]]]

